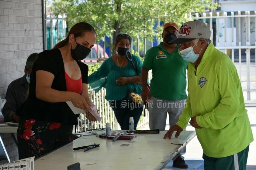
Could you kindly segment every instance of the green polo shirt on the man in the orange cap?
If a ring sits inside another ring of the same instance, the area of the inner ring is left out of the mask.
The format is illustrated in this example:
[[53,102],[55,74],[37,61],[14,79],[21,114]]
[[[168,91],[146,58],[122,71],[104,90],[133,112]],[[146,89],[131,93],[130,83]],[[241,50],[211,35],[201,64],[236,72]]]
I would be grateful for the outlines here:
[[182,100],[186,94],[186,69],[188,62],[178,54],[179,45],[171,54],[163,42],[150,48],[142,67],[152,70],[150,95],[163,100]]

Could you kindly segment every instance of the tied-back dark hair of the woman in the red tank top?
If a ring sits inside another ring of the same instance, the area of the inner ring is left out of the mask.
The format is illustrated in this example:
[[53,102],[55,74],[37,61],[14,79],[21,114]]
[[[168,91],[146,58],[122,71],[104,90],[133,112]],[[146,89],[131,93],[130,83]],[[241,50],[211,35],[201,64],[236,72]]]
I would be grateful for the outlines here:
[[73,25],[73,27],[68,32],[67,38],[62,40],[61,42],[57,43],[53,49],[64,47],[68,44],[70,34],[74,34],[74,38],[81,37],[85,34],[85,32],[94,32],[97,36],[95,29],[87,22],[78,22],[77,24]]

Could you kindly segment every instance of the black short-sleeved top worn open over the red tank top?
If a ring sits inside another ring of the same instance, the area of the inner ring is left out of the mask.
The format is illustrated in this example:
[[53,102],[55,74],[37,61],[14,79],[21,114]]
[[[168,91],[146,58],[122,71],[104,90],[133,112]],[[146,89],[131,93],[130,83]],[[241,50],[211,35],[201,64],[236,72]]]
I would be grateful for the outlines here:
[[[82,82],[88,83],[88,66],[77,61],[82,74]],[[64,63],[61,52],[58,48],[45,50],[39,53],[35,61],[29,82],[29,96],[22,107],[17,111],[17,115],[24,118],[36,120],[60,122],[66,125],[76,125],[77,115],[74,115],[66,102],[50,103],[36,98],[36,71],[44,70],[54,74],[51,88],[67,91]]]

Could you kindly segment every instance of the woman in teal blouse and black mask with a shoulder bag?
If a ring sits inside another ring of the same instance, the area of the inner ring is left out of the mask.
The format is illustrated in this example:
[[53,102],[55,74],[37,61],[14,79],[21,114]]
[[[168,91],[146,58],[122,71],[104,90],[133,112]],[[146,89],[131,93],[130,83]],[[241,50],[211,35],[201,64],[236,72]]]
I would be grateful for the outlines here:
[[143,103],[126,101],[127,88],[138,94],[142,92],[140,84],[142,62],[138,56],[132,55],[132,61],[138,70],[137,74],[132,62],[126,58],[126,51],[130,49],[131,42],[132,38],[129,35],[117,35],[114,44],[117,54],[107,58],[100,68],[88,77],[88,83],[95,92],[102,87],[106,88],[105,99],[109,101],[122,130],[129,129],[130,117],[133,117],[134,129],[136,129],[143,111]]

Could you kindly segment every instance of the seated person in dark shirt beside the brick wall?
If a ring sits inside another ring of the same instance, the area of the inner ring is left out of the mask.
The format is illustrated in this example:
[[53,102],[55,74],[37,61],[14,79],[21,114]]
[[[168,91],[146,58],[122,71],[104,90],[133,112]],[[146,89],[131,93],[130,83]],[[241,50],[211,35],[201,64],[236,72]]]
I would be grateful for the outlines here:
[[17,116],[15,113],[26,100],[30,73],[37,56],[38,53],[29,55],[25,65],[25,75],[23,75],[21,78],[13,80],[7,88],[5,95],[6,103],[2,109],[5,122],[19,122],[19,116]]

